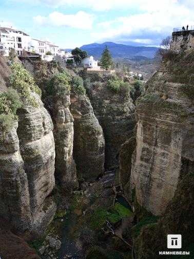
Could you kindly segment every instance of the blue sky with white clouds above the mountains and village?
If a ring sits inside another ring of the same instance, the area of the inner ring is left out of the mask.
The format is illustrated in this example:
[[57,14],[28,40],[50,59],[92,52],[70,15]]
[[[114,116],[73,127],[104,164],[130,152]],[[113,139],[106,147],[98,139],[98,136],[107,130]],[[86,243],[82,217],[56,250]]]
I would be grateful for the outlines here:
[[112,41],[158,46],[194,25],[193,0],[0,0],[0,24],[61,48]]

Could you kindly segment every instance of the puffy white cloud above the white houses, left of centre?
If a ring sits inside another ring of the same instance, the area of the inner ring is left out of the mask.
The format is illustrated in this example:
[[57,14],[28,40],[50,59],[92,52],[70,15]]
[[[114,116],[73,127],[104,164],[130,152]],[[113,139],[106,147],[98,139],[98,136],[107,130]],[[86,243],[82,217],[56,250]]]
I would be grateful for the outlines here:
[[77,29],[91,29],[94,15],[79,11],[76,14],[52,12],[47,17],[37,15],[33,21],[39,25],[65,26]]

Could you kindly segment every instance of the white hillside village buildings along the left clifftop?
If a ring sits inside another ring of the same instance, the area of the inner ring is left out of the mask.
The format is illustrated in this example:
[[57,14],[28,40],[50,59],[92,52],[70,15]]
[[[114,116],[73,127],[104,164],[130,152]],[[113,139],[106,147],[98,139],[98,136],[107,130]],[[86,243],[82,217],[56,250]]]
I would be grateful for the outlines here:
[[[59,46],[49,41],[34,39],[21,30],[0,26],[0,54],[8,57],[11,49],[14,49],[19,57],[39,57],[41,60],[46,61],[57,59],[65,66],[80,67],[80,69],[86,69],[88,72],[115,72],[115,70],[106,71],[103,69],[98,60],[94,60],[92,55],[87,55],[80,64],[76,64],[71,52],[60,49]],[[126,76],[142,78],[140,73],[132,71],[126,73]]]

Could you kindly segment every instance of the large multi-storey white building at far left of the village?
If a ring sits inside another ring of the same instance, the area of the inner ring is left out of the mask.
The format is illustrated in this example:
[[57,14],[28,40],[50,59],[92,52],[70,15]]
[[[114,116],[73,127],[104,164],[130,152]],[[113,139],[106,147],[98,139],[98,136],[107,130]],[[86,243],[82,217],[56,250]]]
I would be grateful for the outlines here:
[[0,28],[0,48],[9,54],[11,48],[15,49],[17,55],[22,55],[23,50],[30,50],[31,37],[23,31],[13,28]]

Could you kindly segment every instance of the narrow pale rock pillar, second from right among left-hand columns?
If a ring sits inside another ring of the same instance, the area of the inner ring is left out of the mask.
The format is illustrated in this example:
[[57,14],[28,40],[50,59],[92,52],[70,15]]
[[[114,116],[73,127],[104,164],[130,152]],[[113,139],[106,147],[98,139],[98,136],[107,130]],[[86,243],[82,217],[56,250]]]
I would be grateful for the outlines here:
[[56,177],[64,189],[74,189],[78,186],[76,168],[73,160],[73,116],[69,110],[70,93],[63,99],[55,97],[53,121],[55,140],[55,171]]

